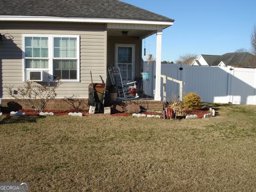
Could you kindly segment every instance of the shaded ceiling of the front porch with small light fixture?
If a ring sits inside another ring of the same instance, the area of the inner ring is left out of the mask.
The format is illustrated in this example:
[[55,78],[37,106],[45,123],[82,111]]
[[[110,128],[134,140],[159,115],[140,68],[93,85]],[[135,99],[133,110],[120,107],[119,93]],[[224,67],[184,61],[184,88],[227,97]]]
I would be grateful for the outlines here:
[[[123,36],[122,31],[128,31],[127,36]],[[138,29],[108,29],[108,36],[110,37],[138,37],[143,39],[154,33],[155,30],[138,30]]]

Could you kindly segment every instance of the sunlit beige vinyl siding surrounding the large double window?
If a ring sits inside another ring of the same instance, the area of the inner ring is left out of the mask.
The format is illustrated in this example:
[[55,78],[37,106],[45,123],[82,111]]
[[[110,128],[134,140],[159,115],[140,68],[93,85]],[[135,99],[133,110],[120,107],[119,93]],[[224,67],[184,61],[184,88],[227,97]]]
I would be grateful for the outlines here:
[[[106,26],[89,23],[53,23],[53,22],[0,22],[0,33],[5,34],[0,44],[1,97],[9,98],[5,85],[14,85],[15,89],[22,82],[22,35],[51,34],[79,35],[80,37],[80,82],[63,82],[57,90],[57,98],[88,98],[88,85],[101,83],[106,77]],[[12,39],[6,39],[6,37]]]

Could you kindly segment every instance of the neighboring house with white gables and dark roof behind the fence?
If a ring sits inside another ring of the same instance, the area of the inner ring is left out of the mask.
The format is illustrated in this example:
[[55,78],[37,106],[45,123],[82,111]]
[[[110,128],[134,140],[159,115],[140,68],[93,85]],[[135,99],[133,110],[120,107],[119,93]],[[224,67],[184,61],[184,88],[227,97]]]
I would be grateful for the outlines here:
[[233,66],[256,68],[256,63],[253,62],[255,56],[251,53],[226,53],[223,55],[206,55],[202,54],[193,61],[191,66]]

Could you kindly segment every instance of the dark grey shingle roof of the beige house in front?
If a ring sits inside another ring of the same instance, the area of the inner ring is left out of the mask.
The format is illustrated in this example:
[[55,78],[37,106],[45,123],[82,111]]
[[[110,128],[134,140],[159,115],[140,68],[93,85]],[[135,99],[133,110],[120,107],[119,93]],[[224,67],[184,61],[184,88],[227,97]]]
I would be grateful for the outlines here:
[[174,21],[117,0],[2,0],[0,15]]

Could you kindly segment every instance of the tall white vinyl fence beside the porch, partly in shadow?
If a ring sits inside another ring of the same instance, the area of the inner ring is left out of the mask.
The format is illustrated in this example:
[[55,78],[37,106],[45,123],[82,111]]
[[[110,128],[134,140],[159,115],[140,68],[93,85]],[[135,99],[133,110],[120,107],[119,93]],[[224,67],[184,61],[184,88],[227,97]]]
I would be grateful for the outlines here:
[[[149,82],[143,81],[143,91],[154,96],[155,63],[144,63],[143,71],[150,73]],[[184,82],[183,97],[186,93],[195,92],[203,102],[256,105],[256,69],[162,64],[161,74]],[[172,94],[179,96],[179,84],[167,80],[167,100]],[[161,97],[163,99],[163,78]]]

